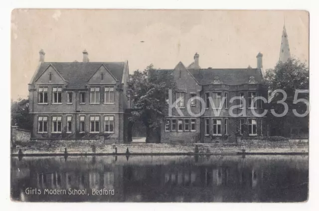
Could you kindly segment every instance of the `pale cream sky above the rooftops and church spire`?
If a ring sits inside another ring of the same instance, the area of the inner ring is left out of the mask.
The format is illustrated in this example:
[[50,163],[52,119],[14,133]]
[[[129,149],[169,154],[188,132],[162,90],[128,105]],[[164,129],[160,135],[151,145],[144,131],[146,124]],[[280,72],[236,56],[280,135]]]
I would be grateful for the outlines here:
[[130,73],[185,66],[264,69],[279,59],[284,22],[293,57],[309,62],[309,14],[303,10],[14,9],[11,13],[11,99],[25,98],[38,65],[46,62],[129,62]]

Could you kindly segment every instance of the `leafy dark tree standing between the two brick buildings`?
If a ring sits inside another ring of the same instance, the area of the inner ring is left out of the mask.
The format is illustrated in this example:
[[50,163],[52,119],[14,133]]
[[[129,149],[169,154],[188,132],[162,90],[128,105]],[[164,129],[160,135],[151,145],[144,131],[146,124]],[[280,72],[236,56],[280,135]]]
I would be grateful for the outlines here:
[[159,131],[168,112],[168,89],[176,89],[174,76],[167,70],[156,70],[153,64],[144,71],[136,70],[130,75],[128,97],[131,99],[132,111],[130,121],[141,120],[146,126],[146,142],[150,142],[152,131]]

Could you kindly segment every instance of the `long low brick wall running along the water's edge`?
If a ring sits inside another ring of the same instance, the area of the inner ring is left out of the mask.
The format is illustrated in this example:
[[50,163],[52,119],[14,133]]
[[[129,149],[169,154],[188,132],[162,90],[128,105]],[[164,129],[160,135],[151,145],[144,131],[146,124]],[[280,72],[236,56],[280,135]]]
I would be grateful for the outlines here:
[[[93,147],[95,146],[95,147]],[[243,140],[242,145],[236,144],[104,144],[103,139],[88,140],[32,140],[28,144],[20,144],[12,149],[17,154],[21,149],[24,154],[64,153],[67,152],[92,154],[126,153],[132,154],[237,154],[245,150],[246,153],[308,153],[308,143],[265,142],[261,140]]]

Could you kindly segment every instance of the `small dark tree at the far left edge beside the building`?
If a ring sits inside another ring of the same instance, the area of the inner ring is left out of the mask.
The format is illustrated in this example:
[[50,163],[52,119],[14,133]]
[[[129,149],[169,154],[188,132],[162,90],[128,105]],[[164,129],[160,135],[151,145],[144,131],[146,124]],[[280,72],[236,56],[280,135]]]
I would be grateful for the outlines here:
[[21,129],[32,130],[32,117],[29,114],[29,99],[11,102],[11,125]]

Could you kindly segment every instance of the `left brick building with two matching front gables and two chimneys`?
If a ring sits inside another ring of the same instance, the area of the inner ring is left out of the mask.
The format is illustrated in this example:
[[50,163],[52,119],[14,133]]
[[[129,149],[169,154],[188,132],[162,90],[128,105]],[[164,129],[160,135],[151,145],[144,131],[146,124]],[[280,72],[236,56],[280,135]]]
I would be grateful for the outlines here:
[[124,112],[128,61],[44,62],[29,85],[29,112],[33,115],[32,138],[86,138],[98,135],[121,143],[125,139]]

